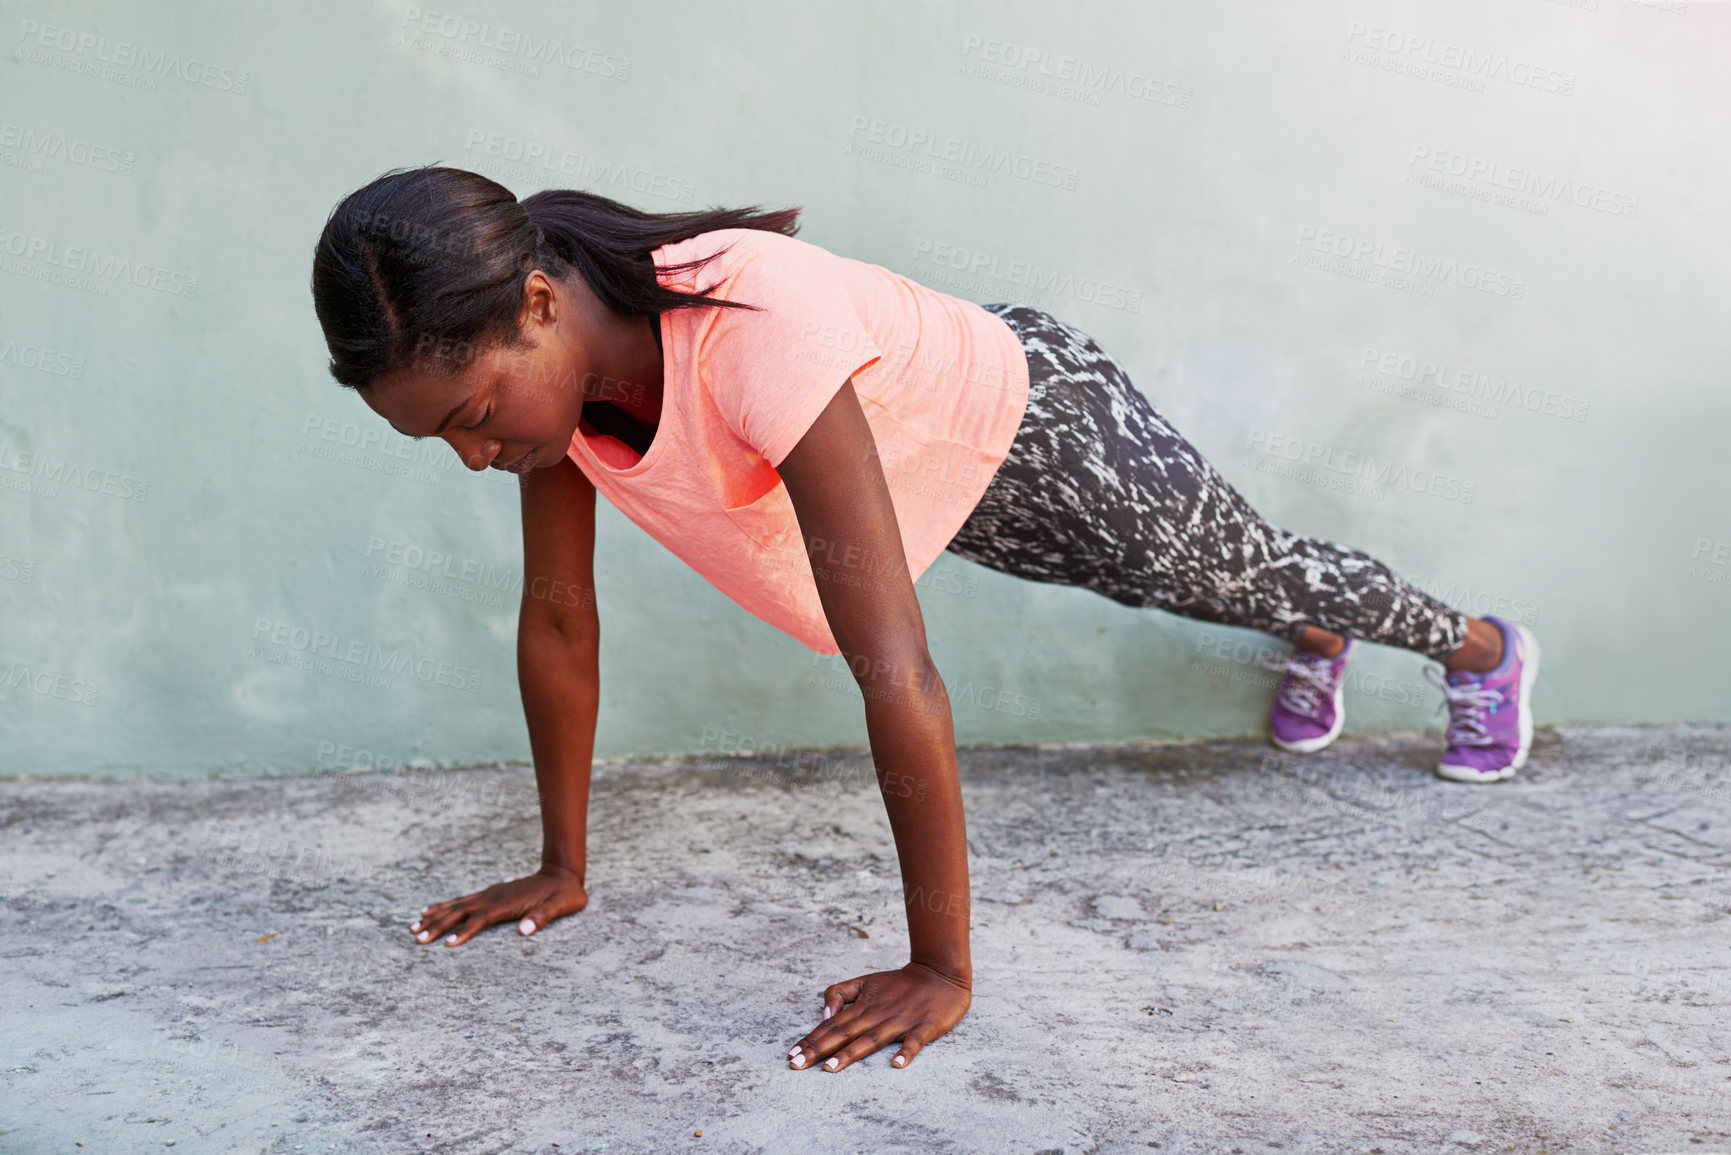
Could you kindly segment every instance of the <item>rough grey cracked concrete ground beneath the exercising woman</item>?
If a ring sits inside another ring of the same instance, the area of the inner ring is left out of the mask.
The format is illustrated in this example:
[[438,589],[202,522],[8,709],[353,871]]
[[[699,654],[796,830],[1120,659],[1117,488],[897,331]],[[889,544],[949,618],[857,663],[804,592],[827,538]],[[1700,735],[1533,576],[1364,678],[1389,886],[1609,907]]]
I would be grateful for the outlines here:
[[457,949],[524,767],[0,783],[0,1150],[1731,1150],[1731,729],[1435,755],[964,750],[973,1011],[841,1074],[782,1056],[905,958],[860,752],[599,767],[589,909]]

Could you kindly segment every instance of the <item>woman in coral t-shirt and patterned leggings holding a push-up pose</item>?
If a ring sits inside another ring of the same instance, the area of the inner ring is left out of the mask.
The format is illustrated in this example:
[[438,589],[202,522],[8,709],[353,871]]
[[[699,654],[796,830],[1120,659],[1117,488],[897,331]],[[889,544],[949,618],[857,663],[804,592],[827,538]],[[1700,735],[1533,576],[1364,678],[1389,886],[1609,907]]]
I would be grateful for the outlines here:
[[914,596],[943,549],[1291,641],[1271,713],[1288,750],[1340,734],[1347,660],[1371,641],[1447,670],[1440,774],[1497,781],[1525,762],[1539,649],[1523,627],[1264,521],[1087,334],[831,255],[793,237],[796,216],[640,213],[568,190],[518,203],[421,168],[325,223],[312,287],[332,376],[398,431],[521,476],[518,677],[542,866],[426,907],[419,942],[507,919],[528,935],[589,902],[597,490],[859,682],[909,963],[824,990],[796,1068],[891,1042],[902,1067],[969,1006],[956,739]]

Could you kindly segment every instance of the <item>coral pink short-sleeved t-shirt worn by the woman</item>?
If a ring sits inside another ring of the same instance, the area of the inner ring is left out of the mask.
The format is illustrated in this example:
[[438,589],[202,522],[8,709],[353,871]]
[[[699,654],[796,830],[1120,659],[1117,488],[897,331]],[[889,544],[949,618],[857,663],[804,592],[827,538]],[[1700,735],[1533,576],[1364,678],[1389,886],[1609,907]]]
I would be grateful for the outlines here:
[[[668,265],[727,251],[696,272]],[[1014,331],[971,301],[881,265],[760,229],[720,229],[654,251],[661,284],[743,308],[661,313],[665,393],[642,457],[578,429],[569,457],[620,513],[744,610],[819,653],[824,618],[775,466],[848,377],[890,485],[911,577],[973,513],[1028,403]],[[836,552],[869,578],[871,558]]]

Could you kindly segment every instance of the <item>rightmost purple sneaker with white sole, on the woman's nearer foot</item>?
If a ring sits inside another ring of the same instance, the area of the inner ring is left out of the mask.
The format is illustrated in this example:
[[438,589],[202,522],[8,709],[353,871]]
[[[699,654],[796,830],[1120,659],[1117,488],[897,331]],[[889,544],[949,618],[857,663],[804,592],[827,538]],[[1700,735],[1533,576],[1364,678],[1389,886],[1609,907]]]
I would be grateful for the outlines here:
[[[1490,674],[1451,670],[1438,682],[1449,705],[1449,752],[1438,778],[1501,783],[1527,765],[1532,746],[1532,682],[1539,677],[1539,639],[1523,625],[1485,616],[1503,630],[1503,661]],[[1426,667],[1426,674],[1435,667]],[[1432,677],[1437,682],[1435,677]]]

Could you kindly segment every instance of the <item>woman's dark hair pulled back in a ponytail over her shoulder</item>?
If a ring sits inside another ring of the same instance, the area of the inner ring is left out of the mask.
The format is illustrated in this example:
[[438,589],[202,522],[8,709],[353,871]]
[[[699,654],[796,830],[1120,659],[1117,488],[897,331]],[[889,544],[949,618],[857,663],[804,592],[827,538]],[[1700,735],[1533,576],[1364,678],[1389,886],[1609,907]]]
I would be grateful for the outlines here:
[[[331,348],[331,376],[351,388],[415,364],[466,364],[493,343],[519,341],[523,279],[575,268],[627,317],[675,308],[755,308],[656,279],[651,253],[715,229],[793,236],[798,208],[756,206],[644,213],[576,189],[518,203],[502,184],[460,168],[384,173],[343,197],[313,251],[313,310]],[[699,268],[718,253],[668,265]]]

